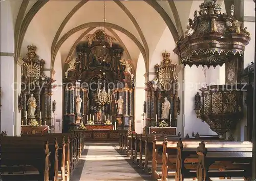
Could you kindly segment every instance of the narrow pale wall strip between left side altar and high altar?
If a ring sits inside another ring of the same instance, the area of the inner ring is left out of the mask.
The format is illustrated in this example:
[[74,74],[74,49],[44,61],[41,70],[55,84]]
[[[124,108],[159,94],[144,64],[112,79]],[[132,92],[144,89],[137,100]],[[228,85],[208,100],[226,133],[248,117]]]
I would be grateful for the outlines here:
[[[63,107],[63,91],[62,91],[62,69],[61,69],[61,56],[60,53],[57,53],[54,70],[55,74],[53,79],[56,80],[53,85],[56,85],[54,89],[52,89],[52,102],[56,101],[56,110],[52,112],[53,122],[52,124],[55,126],[55,132],[62,131],[62,107]],[[56,122],[56,119],[60,119],[60,122]]]

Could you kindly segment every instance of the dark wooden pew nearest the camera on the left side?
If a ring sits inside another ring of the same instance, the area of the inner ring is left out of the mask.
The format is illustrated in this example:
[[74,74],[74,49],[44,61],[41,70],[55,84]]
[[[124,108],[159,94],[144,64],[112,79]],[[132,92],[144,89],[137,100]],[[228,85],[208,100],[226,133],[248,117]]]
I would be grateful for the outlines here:
[[[14,137],[13,137],[14,138]],[[1,165],[6,165],[8,168],[14,165],[32,165],[38,172],[37,180],[50,180],[49,142],[3,142],[1,138]],[[1,175],[3,180],[22,180],[22,175]],[[12,176],[12,177],[11,177]],[[14,177],[18,176],[18,177]],[[27,175],[24,175],[27,176]],[[26,178],[24,178],[27,180]],[[33,175],[33,179],[36,179]]]

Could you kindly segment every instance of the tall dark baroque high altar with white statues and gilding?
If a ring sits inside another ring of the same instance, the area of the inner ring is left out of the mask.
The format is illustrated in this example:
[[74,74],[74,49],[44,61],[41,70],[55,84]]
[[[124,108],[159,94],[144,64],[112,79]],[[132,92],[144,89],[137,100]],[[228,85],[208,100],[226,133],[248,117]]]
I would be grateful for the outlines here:
[[63,132],[80,123],[93,130],[133,129],[134,72],[122,55],[122,46],[103,30],[78,43],[76,58],[64,67]]

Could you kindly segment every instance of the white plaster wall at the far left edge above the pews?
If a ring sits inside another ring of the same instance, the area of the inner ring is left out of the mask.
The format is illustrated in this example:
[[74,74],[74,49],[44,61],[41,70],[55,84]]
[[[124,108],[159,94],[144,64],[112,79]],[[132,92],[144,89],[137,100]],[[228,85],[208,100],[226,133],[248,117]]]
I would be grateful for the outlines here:
[[[1,2],[1,52],[14,53],[10,2]],[[14,57],[1,56],[1,131],[14,135]]]

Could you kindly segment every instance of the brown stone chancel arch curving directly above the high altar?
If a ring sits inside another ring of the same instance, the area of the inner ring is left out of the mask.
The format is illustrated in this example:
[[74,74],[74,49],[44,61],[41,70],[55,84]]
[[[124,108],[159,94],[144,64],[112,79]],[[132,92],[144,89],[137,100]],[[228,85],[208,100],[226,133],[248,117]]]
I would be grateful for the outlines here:
[[140,41],[129,31],[125,30],[124,28],[118,26],[118,25],[115,25],[115,24],[111,24],[109,22],[88,22],[86,24],[83,24],[83,25],[79,25],[73,29],[71,29],[70,31],[68,31],[65,35],[63,35],[59,41],[57,42],[56,44],[56,48],[55,48],[55,51],[53,53],[53,62],[51,63],[51,69],[53,70],[53,65],[54,65],[54,61],[55,61],[55,57],[57,55],[57,52],[59,50],[59,48],[61,47],[61,44],[63,42],[65,42],[72,34],[74,34],[75,32],[79,31],[79,30],[82,30],[84,28],[90,28],[90,27],[103,27],[105,26],[106,28],[111,28],[111,29],[115,29],[117,31],[120,31],[122,32],[123,34],[127,35],[130,39],[133,40],[133,42],[137,45],[137,47],[139,48],[143,58],[144,58],[144,61],[145,61],[145,65],[146,67],[147,66],[147,62],[146,62],[146,53],[145,53],[145,49],[144,47],[142,46],[142,44],[140,43]]

